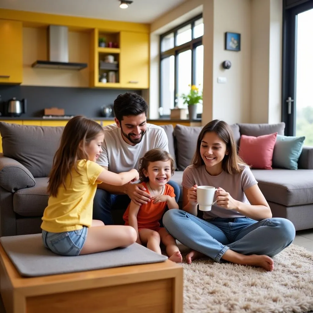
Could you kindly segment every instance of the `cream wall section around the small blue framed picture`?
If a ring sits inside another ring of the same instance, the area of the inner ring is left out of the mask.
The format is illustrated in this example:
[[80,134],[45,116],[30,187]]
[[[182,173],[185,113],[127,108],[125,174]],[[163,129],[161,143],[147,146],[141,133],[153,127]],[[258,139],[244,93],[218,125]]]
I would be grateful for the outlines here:
[[[206,6],[204,6],[206,7]],[[205,22],[204,22],[205,23]],[[251,75],[251,19],[250,0],[215,0],[213,24],[213,119],[229,124],[249,122]],[[225,32],[241,34],[240,51],[225,50]],[[207,47],[204,48],[204,51]],[[205,52],[206,53],[206,52]],[[230,60],[230,69],[222,63]],[[218,77],[226,77],[227,83],[218,83]],[[207,86],[207,83],[204,82]],[[210,110],[210,106],[208,107]],[[203,116],[203,123],[210,121]]]

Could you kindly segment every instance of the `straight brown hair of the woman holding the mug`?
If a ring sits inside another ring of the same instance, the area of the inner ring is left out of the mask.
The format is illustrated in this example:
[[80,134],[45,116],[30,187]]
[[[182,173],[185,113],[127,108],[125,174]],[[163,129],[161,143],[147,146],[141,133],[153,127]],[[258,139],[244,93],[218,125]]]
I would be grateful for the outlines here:
[[226,151],[228,151],[228,154],[224,156],[222,161],[223,170],[231,175],[241,173],[243,171],[242,165],[246,164],[237,153],[237,144],[233,136],[233,131],[226,122],[219,120],[213,120],[202,128],[198,136],[197,148],[192,159],[192,165],[196,167],[204,165],[204,161],[200,154],[200,146],[201,141],[207,132],[215,132],[226,144]]

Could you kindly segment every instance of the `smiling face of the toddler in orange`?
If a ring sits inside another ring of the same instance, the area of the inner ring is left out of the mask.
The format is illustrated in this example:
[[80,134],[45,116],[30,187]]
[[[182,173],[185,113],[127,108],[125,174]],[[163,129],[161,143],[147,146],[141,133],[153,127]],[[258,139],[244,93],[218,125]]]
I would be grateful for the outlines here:
[[149,177],[150,185],[164,186],[171,178],[171,160],[150,162],[143,173]]

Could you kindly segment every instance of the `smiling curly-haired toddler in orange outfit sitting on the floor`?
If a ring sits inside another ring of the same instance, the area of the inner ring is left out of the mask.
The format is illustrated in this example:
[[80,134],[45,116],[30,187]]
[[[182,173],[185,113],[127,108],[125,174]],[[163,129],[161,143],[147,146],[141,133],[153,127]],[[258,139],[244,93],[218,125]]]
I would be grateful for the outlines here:
[[[133,201],[124,213],[125,225],[136,229],[138,244],[144,244],[152,251],[161,254],[160,241],[166,246],[169,259],[180,263],[182,255],[175,239],[160,227],[159,220],[166,208],[178,209],[174,189],[167,182],[174,174],[174,161],[163,149],[152,149],[139,159],[139,178],[147,192],[152,196],[151,202],[137,205]],[[171,210],[177,211],[177,210]]]

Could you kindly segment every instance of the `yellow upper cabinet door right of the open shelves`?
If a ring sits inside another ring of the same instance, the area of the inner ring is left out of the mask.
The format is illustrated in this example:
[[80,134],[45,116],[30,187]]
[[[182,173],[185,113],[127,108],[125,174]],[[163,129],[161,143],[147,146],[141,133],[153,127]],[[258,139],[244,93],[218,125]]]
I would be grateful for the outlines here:
[[122,88],[149,88],[149,34],[120,32]]

